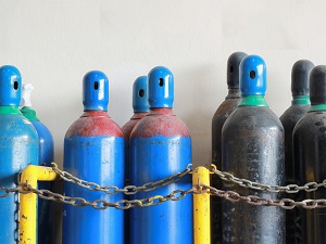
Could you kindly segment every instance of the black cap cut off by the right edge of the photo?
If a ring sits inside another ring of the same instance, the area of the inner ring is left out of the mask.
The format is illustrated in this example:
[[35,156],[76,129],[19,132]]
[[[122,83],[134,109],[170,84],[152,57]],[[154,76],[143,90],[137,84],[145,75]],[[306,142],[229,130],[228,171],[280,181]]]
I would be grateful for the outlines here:
[[326,104],[326,65],[311,70],[309,86],[311,105]]

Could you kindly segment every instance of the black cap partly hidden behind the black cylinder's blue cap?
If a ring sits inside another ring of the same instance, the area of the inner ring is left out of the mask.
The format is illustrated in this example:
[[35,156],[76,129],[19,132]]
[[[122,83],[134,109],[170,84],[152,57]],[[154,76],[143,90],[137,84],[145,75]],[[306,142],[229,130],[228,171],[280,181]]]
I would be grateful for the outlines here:
[[234,52],[227,60],[227,88],[239,88],[239,66],[243,57],[247,56],[244,52]]

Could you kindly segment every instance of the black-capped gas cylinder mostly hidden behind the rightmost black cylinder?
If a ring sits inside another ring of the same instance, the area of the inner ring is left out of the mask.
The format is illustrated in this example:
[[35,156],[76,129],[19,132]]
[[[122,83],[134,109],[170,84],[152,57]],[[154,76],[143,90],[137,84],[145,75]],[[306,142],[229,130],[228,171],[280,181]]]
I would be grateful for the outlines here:
[[[292,67],[291,91],[292,104],[279,117],[285,130],[285,174],[286,184],[298,184],[294,180],[294,165],[292,160],[292,132],[296,124],[305,115],[310,108],[309,100],[309,76],[314,64],[308,60],[297,61]],[[296,198],[297,194],[288,195],[289,198]],[[296,244],[296,232],[301,232],[300,219],[296,216],[298,208],[286,211],[286,236],[287,243]],[[297,234],[297,239],[300,235]],[[300,243],[300,241],[298,240]],[[301,242],[302,243],[302,242]]]

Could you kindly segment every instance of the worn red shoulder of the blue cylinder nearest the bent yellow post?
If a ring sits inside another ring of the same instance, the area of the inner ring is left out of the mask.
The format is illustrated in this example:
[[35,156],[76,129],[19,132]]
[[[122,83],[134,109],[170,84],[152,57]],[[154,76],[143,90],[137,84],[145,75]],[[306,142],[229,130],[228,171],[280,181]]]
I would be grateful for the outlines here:
[[122,129],[109,116],[82,116],[67,130],[71,137],[124,137]]

